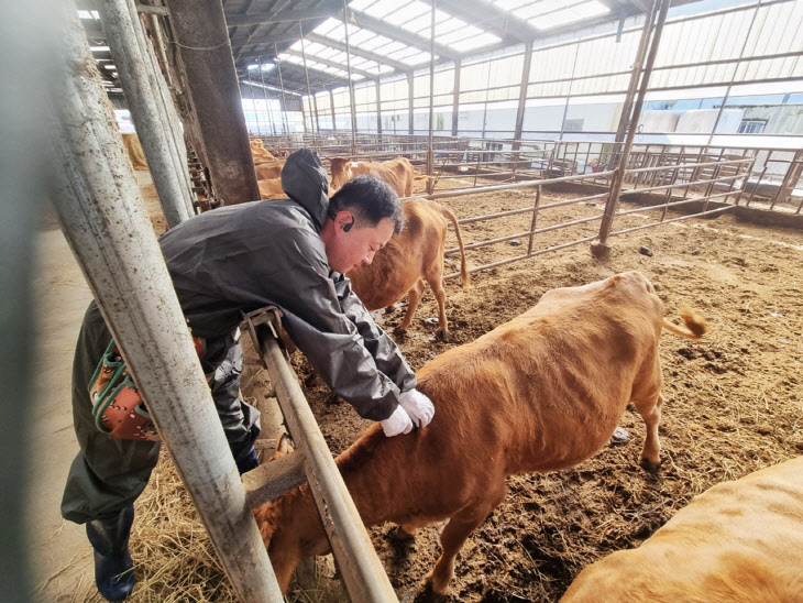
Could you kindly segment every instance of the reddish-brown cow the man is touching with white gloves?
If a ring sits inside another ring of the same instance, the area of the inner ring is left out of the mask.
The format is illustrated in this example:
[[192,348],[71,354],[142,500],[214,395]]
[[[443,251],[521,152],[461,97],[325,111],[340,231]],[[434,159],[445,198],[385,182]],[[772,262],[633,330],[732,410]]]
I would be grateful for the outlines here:
[[[444,593],[454,557],[505,497],[505,478],[557,471],[598,451],[628,403],[647,424],[641,462],[659,463],[661,329],[705,331],[663,318],[652,284],[638,272],[546,293],[529,311],[418,372],[436,407],[428,427],[386,438],[378,424],[337,459],[366,526],[393,522],[403,533],[449,518],[443,553],[429,575]],[[254,511],[283,591],[304,556],[329,546],[307,486]]]

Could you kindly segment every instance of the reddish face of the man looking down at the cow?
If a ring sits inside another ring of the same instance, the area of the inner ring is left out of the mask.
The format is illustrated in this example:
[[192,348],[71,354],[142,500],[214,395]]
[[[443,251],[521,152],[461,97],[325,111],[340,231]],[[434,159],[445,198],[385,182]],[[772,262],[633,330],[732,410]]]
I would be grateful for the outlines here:
[[353,224],[348,228],[352,221],[351,212],[339,212],[334,219],[334,235],[327,245],[329,265],[344,274],[370,264],[374,254],[393,237],[393,221],[389,218],[383,218],[375,227],[360,228]]

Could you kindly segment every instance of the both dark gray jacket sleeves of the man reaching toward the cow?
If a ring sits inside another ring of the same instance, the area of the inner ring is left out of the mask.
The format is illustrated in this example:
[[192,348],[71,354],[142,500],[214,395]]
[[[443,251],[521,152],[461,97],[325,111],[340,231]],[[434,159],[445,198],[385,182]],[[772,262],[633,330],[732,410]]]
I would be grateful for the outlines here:
[[366,316],[360,315],[362,304],[350,287],[341,290],[342,298],[338,295],[320,239],[304,231],[296,237],[306,240],[296,240],[295,249],[274,264],[285,273],[277,303],[288,335],[360,416],[389,417],[398,405],[398,384],[410,388],[415,375],[364,308]]

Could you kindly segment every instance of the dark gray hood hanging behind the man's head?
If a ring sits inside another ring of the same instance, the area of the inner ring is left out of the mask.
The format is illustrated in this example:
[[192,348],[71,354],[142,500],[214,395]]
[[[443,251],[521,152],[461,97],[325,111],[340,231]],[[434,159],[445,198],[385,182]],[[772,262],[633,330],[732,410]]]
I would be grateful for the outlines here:
[[282,188],[287,196],[304,207],[312,218],[318,231],[329,210],[329,177],[315,151],[296,151],[282,168]]

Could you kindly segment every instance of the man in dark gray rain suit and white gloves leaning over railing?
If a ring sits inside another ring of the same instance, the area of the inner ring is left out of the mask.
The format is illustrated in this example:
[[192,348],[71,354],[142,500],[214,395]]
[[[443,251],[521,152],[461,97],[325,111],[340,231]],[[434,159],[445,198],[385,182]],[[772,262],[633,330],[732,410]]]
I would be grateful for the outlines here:
[[[282,173],[287,200],[255,201],[196,216],[160,241],[178,300],[205,341],[201,365],[240,472],[256,467],[258,412],[240,398],[243,313],[278,306],[283,325],[312,366],[360,416],[386,436],[425,427],[432,403],[415,373],[374,322],[345,274],[370,264],[402,230],[395,191],[361,176],[327,197],[318,155],[301,150]],[[92,303],[73,366],[73,413],[81,451],[67,479],[62,514],[85,523],[96,583],[110,601],[134,585],[128,540],[133,502],[158,459],[158,442],[110,439],[95,426],[87,384],[111,336]]]

